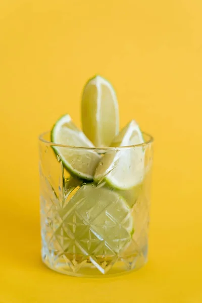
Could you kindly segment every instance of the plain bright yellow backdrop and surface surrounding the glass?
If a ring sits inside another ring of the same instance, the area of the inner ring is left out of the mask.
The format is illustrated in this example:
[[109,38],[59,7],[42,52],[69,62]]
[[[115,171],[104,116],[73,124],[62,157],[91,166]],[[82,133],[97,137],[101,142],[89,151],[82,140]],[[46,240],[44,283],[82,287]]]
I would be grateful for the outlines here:
[[[201,0],[0,2],[0,302],[202,301]],[[108,279],[40,261],[38,142],[80,92],[110,79],[121,126],[155,137],[149,262]]]

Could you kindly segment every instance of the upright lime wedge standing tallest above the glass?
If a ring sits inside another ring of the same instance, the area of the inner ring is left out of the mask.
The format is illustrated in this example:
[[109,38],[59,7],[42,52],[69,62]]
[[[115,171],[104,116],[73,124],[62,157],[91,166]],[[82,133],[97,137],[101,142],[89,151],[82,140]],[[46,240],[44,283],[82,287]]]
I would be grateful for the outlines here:
[[83,132],[97,147],[109,146],[119,132],[119,108],[116,93],[106,79],[88,80],[82,95]]

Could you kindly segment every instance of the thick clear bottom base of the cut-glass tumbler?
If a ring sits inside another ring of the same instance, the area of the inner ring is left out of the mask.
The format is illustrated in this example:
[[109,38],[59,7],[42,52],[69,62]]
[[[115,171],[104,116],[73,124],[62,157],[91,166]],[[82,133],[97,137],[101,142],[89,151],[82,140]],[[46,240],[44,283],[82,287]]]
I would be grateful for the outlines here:
[[139,254],[114,258],[114,256],[55,255],[42,249],[42,261],[50,269],[75,277],[112,277],[138,270],[146,262],[145,249]]

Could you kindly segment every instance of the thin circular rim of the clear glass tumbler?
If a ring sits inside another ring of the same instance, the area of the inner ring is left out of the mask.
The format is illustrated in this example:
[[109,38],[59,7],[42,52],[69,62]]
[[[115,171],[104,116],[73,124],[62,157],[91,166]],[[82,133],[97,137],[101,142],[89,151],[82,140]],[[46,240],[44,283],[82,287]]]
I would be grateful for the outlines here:
[[75,148],[75,149],[85,149],[85,150],[114,150],[114,149],[126,149],[126,148],[131,148],[131,147],[144,147],[150,143],[152,143],[154,141],[154,137],[151,136],[150,134],[146,133],[146,132],[142,132],[143,135],[148,136],[148,140],[146,140],[143,143],[140,144],[135,144],[135,145],[128,145],[128,146],[117,146],[117,147],[84,147],[84,146],[73,146],[73,145],[64,145],[64,144],[58,144],[58,143],[53,143],[51,141],[48,141],[46,139],[43,138],[44,135],[50,133],[50,131],[45,131],[43,133],[41,133],[38,136],[39,141],[46,143],[48,145],[51,146],[57,146],[57,147],[67,147],[67,148]]

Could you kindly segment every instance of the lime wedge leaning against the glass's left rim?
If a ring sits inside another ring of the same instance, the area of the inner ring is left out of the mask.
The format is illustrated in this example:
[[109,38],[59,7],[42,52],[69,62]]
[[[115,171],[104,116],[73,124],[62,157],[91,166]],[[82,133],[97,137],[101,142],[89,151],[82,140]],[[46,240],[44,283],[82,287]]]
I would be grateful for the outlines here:
[[72,175],[87,180],[93,179],[93,174],[100,158],[93,150],[73,147],[94,147],[94,145],[88,140],[84,133],[75,126],[69,115],[61,117],[56,122],[51,131],[51,141],[70,146],[52,147],[55,153],[60,156],[64,167]]

